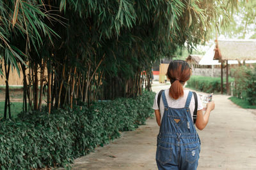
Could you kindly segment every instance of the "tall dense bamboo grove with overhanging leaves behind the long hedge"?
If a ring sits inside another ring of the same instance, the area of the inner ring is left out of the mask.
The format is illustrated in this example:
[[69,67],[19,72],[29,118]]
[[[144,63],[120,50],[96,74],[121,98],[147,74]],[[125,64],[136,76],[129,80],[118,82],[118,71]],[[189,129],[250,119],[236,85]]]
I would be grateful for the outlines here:
[[24,111],[150,90],[152,64],[225,26],[236,0],[0,0],[0,74],[23,78]]

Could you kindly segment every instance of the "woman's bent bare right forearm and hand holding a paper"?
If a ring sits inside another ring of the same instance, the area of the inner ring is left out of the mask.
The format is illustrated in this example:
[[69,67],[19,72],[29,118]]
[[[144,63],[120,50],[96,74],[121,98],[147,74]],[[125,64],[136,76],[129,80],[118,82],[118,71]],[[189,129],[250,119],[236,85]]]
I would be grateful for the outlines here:
[[206,125],[209,122],[210,113],[212,110],[214,110],[214,108],[215,108],[215,103],[214,101],[211,101],[207,104],[207,108],[204,115],[202,110],[197,111],[196,127],[199,130],[202,131],[206,127]]

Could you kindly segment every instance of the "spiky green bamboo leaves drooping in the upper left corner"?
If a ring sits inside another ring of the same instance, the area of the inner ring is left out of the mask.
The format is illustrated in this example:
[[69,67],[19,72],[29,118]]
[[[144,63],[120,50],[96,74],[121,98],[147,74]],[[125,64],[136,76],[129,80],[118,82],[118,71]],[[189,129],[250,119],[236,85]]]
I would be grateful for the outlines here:
[[51,39],[52,34],[56,35],[46,24],[53,17],[42,1],[38,3],[35,0],[0,0],[0,17],[0,60],[3,57],[12,69],[20,73],[19,62],[25,64],[22,57],[28,57],[32,47],[41,46],[43,38]]

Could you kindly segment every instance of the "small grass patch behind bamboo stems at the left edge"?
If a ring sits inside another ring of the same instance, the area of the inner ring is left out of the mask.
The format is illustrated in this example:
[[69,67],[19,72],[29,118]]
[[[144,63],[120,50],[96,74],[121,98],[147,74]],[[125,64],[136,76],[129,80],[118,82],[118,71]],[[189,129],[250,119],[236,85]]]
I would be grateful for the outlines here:
[[[12,118],[17,118],[18,113],[22,111],[22,103],[12,102],[11,103],[11,116]],[[4,117],[4,101],[0,102],[0,118]],[[8,117],[8,111],[7,111]]]

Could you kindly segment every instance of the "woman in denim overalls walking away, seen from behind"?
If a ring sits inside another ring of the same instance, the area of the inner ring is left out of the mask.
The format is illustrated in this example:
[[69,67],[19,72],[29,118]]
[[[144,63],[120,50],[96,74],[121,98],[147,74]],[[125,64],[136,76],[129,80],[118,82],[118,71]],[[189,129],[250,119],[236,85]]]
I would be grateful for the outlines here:
[[166,75],[172,85],[161,95],[160,111],[157,106],[158,94],[154,100],[153,109],[160,126],[156,152],[158,169],[193,170],[198,166],[200,139],[195,125],[200,130],[205,128],[215,104],[214,101],[209,102],[203,114],[203,106],[197,96],[197,118],[195,125],[193,124],[195,99],[192,92],[183,89],[190,74],[191,69],[186,61],[170,62]]

